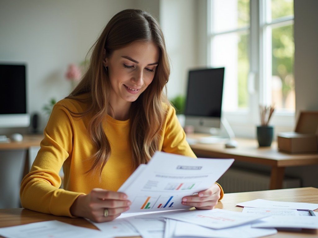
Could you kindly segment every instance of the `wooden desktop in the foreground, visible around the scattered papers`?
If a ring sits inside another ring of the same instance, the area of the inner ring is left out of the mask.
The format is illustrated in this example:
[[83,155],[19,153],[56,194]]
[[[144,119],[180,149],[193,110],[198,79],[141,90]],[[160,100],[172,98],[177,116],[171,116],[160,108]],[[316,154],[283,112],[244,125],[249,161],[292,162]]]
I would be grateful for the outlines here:
[[[281,202],[309,202],[318,203],[318,188],[289,188],[268,191],[228,193],[224,195],[221,202],[218,202],[216,208],[230,211],[241,212],[242,207],[235,206],[235,203],[250,201],[254,199],[266,199]],[[315,210],[315,211],[318,211]],[[24,208],[0,209],[0,227],[10,227],[28,224],[39,221],[58,220],[72,225],[86,228],[97,229],[92,223],[83,218],[69,218],[63,216],[54,216],[34,212]],[[0,236],[1,237],[1,236]],[[267,236],[271,238],[293,238],[293,237],[318,237],[316,229],[303,229],[302,232],[282,232],[276,235]]]

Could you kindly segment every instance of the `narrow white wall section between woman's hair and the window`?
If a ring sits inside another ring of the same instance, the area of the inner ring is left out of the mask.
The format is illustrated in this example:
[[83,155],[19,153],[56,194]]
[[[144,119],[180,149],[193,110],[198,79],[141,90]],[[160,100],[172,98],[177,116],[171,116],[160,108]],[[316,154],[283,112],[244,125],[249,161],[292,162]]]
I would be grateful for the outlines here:
[[171,66],[169,98],[185,95],[188,70],[198,66],[197,9],[196,0],[160,1],[160,25]]

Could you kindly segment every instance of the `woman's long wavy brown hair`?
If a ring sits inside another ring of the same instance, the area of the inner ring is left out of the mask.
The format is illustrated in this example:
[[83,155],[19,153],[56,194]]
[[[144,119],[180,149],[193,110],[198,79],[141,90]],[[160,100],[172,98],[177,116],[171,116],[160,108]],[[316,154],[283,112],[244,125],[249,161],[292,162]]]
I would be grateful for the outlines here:
[[[164,37],[159,23],[149,13],[142,10],[127,9],[117,13],[107,23],[100,37],[90,49],[90,64],[77,87],[66,98],[87,103],[84,112],[73,113],[74,116],[90,116],[88,133],[97,151],[92,156],[92,168],[87,172],[102,170],[111,154],[107,136],[102,128],[102,121],[107,115],[111,91],[107,71],[103,67],[103,49],[110,57],[114,50],[128,46],[134,41],[154,43],[159,48],[159,64],[155,76],[148,88],[132,102],[130,108],[130,144],[133,168],[147,163],[158,149],[160,130],[164,123],[166,111],[162,102],[169,104],[166,97],[166,83],[170,67]],[[164,90],[165,89],[165,90]],[[87,93],[84,101],[78,96]]]

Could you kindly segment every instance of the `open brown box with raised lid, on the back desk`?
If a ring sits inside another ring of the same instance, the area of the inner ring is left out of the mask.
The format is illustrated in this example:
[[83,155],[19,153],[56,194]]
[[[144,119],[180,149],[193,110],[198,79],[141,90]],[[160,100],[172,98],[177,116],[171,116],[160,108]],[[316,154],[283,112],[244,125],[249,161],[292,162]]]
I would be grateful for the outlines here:
[[295,131],[277,135],[278,148],[290,153],[317,152],[318,111],[300,113]]

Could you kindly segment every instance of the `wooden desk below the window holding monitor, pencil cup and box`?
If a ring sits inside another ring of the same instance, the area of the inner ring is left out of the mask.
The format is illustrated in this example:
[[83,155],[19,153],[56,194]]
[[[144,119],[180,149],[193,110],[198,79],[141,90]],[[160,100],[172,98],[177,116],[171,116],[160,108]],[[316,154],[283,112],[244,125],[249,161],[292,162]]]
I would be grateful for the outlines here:
[[[202,135],[187,135],[189,138],[198,138]],[[236,138],[237,148],[225,148],[223,144],[193,144],[190,145],[198,157],[207,158],[234,158],[238,161],[271,166],[270,189],[282,188],[286,167],[318,164],[318,153],[288,154],[277,149],[277,143],[271,147],[259,147],[253,139]]]

